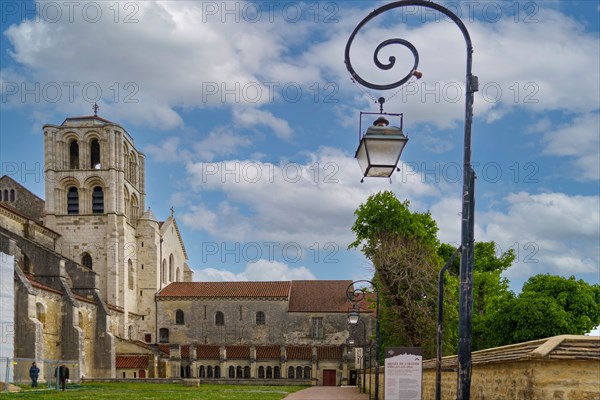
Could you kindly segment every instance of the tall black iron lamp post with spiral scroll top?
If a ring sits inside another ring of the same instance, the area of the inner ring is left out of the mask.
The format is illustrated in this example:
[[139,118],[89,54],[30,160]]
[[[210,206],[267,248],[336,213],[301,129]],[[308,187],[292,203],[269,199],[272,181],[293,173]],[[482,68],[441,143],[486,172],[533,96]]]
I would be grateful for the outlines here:
[[[401,45],[406,47],[413,54],[414,64],[411,70],[406,74],[402,79],[393,82],[391,84],[374,84],[368,82],[358,75],[358,73],[354,70],[352,63],[350,61],[350,47],[354,38],[358,31],[370,20],[377,17],[378,15],[393,10],[400,7],[424,7],[434,9],[444,15],[454,22],[454,24],[460,29],[466,44],[467,50],[467,60],[466,60],[466,96],[465,96],[465,123],[464,123],[464,147],[463,147],[463,185],[462,185],[462,214],[461,214],[461,265],[460,265],[460,294],[459,294],[459,327],[458,327],[458,384],[457,384],[457,399],[465,400],[470,398],[470,386],[471,386],[471,337],[472,337],[472,309],[473,309],[473,231],[474,231],[474,213],[475,213],[475,201],[474,201],[474,188],[475,188],[475,173],[473,171],[473,167],[471,165],[471,125],[473,122],[473,98],[474,93],[478,90],[478,80],[477,77],[471,73],[472,67],[472,54],[473,54],[473,45],[471,43],[471,37],[467,28],[461,19],[456,16],[453,12],[448,10],[447,8],[433,3],[431,1],[426,0],[401,0],[393,3],[386,4],[372,11],[367,17],[365,17],[354,29],[348,42],[346,43],[346,48],[344,52],[344,62],[346,64],[346,68],[350,72],[352,78],[358,82],[359,84],[368,87],[370,89],[375,90],[387,90],[394,89],[402,86],[409,79],[415,76],[417,79],[422,76],[422,74],[417,71],[417,67],[419,65],[419,53],[417,49],[412,45],[412,43],[404,40],[404,39],[388,39],[381,42],[374,51],[373,61],[375,65],[382,70],[389,70],[394,67],[396,62],[395,57],[389,57],[387,63],[382,63],[379,60],[379,52],[389,46],[389,45]],[[383,105],[385,99],[381,98],[379,103]],[[380,112],[383,113],[383,108],[380,108]],[[365,134],[361,139],[361,144],[359,145],[359,149],[357,150],[356,157],[359,157],[359,151],[362,146],[362,141],[368,135]],[[401,141],[401,138],[398,140]],[[404,147],[406,140],[403,141],[402,146],[400,148],[400,152]],[[400,147],[400,146],[397,146]],[[373,149],[375,151],[375,149]],[[398,153],[398,157],[400,157],[400,152]],[[366,150],[365,150],[366,153]],[[377,167],[378,163],[376,161],[372,161],[371,159],[375,159],[378,157],[376,154],[369,153],[369,157],[359,158],[359,165],[363,170],[363,175],[365,177],[369,176],[382,176],[381,174],[377,175],[371,173],[371,171],[375,172],[378,169],[373,168]],[[389,159],[389,154],[382,154],[382,157],[387,157]],[[364,160],[366,161],[366,164]],[[366,168],[364,167],[366,166]],[[395,166],[395,165],[394,165]],[[391,173],[394,172],[394,169],[391,170]],[[390,175],[391,175],[390,173]],[[390,176],[388,175],[388,176]],[[385,175],[384,175],[385,176]]]

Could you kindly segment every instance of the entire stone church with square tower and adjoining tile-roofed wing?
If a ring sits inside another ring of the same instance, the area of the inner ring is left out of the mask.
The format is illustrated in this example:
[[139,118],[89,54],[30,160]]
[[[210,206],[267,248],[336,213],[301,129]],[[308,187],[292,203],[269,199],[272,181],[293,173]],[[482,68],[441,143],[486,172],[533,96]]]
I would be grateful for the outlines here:
[[96,378],[348,379],[350,281],[192,282],[173,211],[146,208],[128,132],[97,115],[43,129],[45,201],[0,178],[8,357]]

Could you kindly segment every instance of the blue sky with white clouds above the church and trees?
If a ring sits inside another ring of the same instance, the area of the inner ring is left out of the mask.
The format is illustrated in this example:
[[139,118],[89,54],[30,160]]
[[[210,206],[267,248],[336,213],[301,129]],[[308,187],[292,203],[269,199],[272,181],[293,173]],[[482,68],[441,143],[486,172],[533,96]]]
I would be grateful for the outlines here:
[[[359,88],[346,41],[374,2],[1,4],[2,174],[44,195],[45,123],[99,115],[147,156],[146,204],[175,209],[195,280],[364,279],[348,251],[354,210],[393,190],[460,238],[465,45],[430,11],[370,22],[351,57],[377,82],[373,50],[400,37],[421,80]],[[512,248],[531,275],[599,281],[600,39],[596,1],[442,2],[470,31],[479,77],[473,123],[476,240]],[[392,53],[386,53],[385,57]],[[353,159],[359,111],[404,113],[410,141],[392,182]]]

